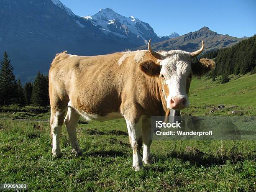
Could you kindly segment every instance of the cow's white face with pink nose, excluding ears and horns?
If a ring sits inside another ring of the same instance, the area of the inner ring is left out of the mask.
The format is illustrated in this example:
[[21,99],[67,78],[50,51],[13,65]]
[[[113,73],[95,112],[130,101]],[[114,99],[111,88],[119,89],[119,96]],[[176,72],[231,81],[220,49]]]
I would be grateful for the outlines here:
[[168,56],[160,61],[160,78],[167,108],[187,108],[192,77],[190,55],[185,51],[169,51],[166,54]]

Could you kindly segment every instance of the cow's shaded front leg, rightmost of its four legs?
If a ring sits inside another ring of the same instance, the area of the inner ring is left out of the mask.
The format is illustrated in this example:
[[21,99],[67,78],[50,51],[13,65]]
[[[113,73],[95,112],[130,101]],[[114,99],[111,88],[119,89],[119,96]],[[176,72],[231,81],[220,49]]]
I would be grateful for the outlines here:
[[143,135],[143,162],[149,164],[151,161],[150,145],[152,143],[152,131],[150,119],[143,119],[142,123],[142,135]]

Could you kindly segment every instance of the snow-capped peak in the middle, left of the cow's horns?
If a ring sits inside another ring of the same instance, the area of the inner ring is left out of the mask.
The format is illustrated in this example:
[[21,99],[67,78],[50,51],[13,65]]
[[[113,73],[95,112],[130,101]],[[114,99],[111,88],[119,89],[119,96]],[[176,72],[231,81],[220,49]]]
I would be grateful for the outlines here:
[[95,26],[102,30],[102,33],[108,36],[126,38],[132,43],[146,44],[149,39],[155,42],[165,40],[158,37],[148,23],[133,16],[127,18],[110,8],[100,9],[95,15],[84,16],[82,18],[90,20]]

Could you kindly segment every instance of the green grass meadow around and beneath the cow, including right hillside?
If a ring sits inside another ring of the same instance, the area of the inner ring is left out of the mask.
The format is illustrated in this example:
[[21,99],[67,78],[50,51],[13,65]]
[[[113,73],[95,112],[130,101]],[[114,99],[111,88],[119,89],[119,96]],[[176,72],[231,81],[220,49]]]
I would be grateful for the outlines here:
[[[230,78],[192,80],[191,106],[182,114],[256,115],[256,74]],[[81,119],[78,157],[63,125],[62,156],[54,158],[49,108],[0,110],[0,183],[26,183],[28,191],[256,191],[256,141],[153,141],[152,164],[135,172],[123,118]]]

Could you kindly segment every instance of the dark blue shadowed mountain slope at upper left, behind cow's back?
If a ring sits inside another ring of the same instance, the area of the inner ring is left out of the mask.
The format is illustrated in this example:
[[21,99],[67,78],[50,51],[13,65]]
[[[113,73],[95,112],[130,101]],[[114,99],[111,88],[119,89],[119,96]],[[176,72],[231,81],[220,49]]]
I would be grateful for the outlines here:
[[92,55],[92,49],[97,49],[104,54],[109,47],[102,41],[117,45],[113,50],[122,47],[91,22],[82,20],[85,27],[81,28],[76,21],[79,17],[67,14],[51,0],[0,0],[0,7],[0,54],[8,52],[15,74],[23,82],[37,71],[47,73],[58,52]]

